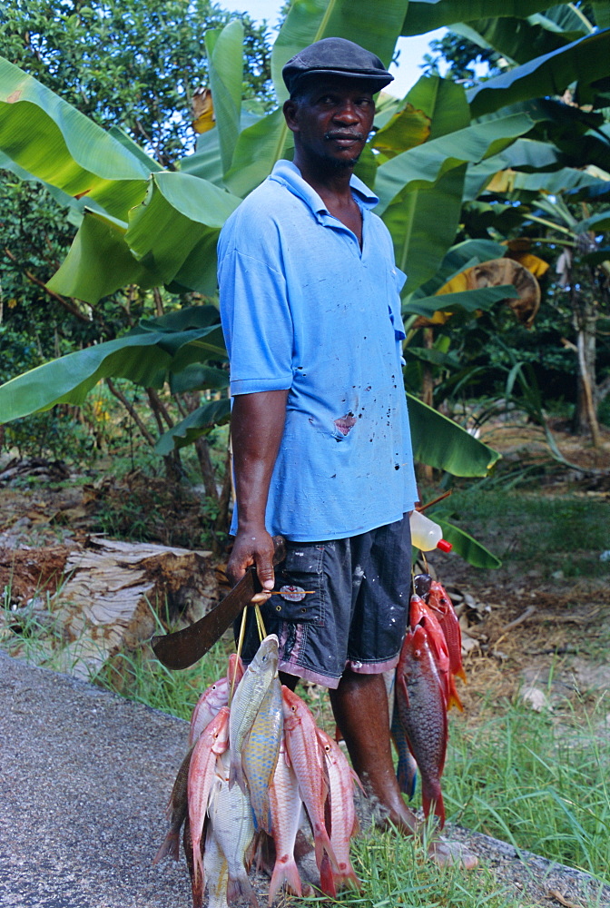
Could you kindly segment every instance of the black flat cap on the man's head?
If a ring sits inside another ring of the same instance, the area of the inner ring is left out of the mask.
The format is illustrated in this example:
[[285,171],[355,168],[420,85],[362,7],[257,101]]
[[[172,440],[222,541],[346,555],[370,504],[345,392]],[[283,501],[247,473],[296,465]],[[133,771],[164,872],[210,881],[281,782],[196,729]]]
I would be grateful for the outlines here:
[[281,71],[290,94],[306,75],[345,75],[369,82],[379,92],[394,76],[378,56],[347,38],[322,38],[290,58]]

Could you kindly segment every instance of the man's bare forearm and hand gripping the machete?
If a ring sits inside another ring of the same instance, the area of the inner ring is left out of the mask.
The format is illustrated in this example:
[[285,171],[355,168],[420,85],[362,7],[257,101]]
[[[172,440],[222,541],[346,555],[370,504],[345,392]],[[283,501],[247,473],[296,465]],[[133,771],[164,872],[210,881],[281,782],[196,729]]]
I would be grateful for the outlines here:
[[238,394],[231,411],[238,529],[227,575],[235,584],[256,565],[263,589],[272,589],[273,540],[265,528],[271,474],[280,449],[288,390]]

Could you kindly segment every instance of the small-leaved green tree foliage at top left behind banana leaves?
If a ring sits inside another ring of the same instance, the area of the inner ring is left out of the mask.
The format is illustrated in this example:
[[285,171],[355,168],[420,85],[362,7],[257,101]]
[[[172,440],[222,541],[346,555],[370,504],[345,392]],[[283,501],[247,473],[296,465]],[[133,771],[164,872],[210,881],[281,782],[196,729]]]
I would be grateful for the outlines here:
[[[207,80],[202,35],[231,15],[208,0],[0,3],[3,54],[105,128],[121,124],[163,166],[189,147],[192,93]],[[245,28],[246,97],[271,97],[264,30]]]

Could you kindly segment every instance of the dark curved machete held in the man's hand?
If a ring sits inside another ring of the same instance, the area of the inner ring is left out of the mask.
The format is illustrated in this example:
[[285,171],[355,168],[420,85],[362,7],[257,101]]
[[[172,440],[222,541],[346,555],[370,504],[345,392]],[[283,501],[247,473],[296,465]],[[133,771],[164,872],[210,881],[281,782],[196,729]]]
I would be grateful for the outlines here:
[[[286,547],[282,536],[273,537],[273,567],[286,557]],[[153,637],[154,655],[167,668],[179,669],[194,666],[208,650],[220,640],[225,630],[248,605],[255,593],[261,592],[261,583],[256,576],[256,568],[247,568],[246,573],[217,606],[199,621],[173,634]]]

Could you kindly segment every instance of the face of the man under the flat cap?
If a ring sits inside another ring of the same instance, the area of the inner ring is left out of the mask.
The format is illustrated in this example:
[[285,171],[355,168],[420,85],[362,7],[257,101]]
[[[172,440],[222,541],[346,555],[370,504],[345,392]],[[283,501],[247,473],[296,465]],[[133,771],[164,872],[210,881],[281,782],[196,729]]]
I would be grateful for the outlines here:
[[375,104],[366,83],[329,75],[310,82],[303,95],[287,101],[284,114],[306,160],[340,170],[358,161],[373,125]]

